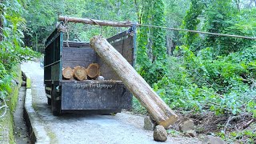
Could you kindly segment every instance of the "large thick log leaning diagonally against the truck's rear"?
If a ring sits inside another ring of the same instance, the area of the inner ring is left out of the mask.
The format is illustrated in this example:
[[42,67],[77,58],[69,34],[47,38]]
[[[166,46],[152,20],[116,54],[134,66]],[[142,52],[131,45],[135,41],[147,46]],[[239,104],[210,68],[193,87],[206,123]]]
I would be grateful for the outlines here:
[[174,111],[170,110],[162,98],[151,89],[142,76],[134,70],[134,67],[130,66],[122,54],[118,53],[105,38],[94,36],[90,39],[90,46],[113,68],[126,87],[138,98],[142,106],[146,107],[146,110],[159,125],[167,128],[177,122],[178,116],[174,114]]

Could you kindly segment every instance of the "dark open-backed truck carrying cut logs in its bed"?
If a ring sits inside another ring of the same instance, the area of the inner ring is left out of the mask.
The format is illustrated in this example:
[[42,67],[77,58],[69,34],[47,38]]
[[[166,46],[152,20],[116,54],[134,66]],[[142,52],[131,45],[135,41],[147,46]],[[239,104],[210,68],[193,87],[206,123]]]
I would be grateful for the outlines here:
[[[135,33],[125,31],[107,41],[134,65]],[[132,94],[114,70],[89,42],[64,41],[59,26],[46,39],[44,85],[54,115],[111,114],[131,109]]]

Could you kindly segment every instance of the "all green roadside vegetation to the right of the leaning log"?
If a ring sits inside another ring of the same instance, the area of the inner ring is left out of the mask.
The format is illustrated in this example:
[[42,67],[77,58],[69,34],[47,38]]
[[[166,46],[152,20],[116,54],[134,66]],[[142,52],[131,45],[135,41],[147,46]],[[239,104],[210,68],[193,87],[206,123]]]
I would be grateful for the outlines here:
[[[165,3],[143,3],[142,24],[165,26]],[[237,1],[192,0],[180,27],[255,38],[255,12]],[[255,39],[179,32],[172,39],[180,44],[166,56],[162,35],[166,30],[139,29],[138,72],[172,109],[201,125],[199,134],[254,143],[255,126],[246,128],[256,118]]]

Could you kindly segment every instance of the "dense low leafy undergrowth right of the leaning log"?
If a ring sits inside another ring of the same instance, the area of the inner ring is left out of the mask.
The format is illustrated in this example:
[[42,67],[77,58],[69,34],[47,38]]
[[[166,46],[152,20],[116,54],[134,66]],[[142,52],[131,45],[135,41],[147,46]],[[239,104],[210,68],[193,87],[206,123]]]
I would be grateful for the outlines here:
[[181,46],[182,58],[170,58],[170,74],[154,90],[174,109],[250,112],[256,117],[255,47],[213,59],[206,48],[195,55]]

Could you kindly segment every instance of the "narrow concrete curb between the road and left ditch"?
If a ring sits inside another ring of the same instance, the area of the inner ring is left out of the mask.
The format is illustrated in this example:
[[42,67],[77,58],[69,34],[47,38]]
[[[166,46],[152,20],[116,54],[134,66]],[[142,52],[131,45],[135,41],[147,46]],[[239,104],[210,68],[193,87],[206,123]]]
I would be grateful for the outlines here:
[[26,125],[29,127],[30,141],[31,143],[50,143],[42,122],[40,122],[36,111],[32,105],[32,90],[31,90],[31,79],[26,74],[26,95],[24,104],[24,118]]

